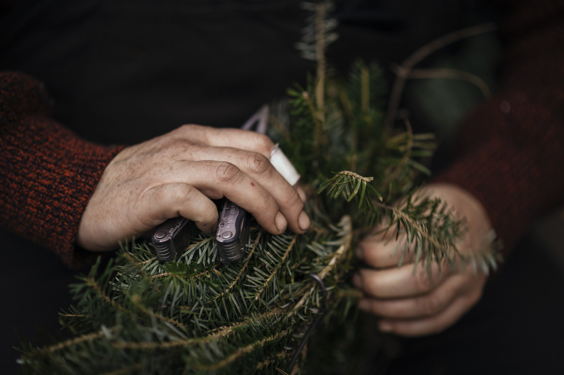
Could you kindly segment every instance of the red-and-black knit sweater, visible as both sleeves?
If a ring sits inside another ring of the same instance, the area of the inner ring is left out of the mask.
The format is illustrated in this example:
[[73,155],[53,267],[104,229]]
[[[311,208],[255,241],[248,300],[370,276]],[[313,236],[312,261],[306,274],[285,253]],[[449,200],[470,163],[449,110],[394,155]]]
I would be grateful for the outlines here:
[[[500,3],[512,10],[503,24],[499,93],[469,117],[457,157],[434,180],[474,194],[510,249],[532,218],[562,203],[564,6],[551,0]],[[50,120],[37,81],[14,73],[1,77],[0,225],[76,264],[81,213],[120,148],[91,144]]]

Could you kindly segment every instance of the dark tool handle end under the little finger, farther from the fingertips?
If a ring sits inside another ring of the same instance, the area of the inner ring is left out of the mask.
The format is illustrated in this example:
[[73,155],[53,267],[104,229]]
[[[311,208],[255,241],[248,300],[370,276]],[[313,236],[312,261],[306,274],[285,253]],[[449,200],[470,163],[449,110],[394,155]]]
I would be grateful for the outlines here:
[[182,216],[171,218],[157,227],[151,242],[157,250],[157,258],[161,262],[172,262],[177,252],[182,252],[190,242],[187,218]]

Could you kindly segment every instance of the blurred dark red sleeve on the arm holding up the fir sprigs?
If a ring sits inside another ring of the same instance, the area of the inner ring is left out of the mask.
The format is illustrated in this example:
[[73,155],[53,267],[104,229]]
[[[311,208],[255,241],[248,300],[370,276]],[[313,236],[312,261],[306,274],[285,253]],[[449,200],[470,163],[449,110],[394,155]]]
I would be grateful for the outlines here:
[[549,0],[513,8],[499,93],[466,120],[455,161],[433,178],[474,194],[506,251],[564,202],[563,15]]

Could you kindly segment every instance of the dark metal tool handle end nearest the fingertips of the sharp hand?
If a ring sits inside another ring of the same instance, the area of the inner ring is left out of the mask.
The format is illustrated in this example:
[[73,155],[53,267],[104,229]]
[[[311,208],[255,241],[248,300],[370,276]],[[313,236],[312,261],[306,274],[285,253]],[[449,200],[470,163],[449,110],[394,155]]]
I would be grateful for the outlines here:
[[223,262],[235,263],[243,258],[248,235],[247,212],[226,198],[222,204],[215,234],[215,242]]

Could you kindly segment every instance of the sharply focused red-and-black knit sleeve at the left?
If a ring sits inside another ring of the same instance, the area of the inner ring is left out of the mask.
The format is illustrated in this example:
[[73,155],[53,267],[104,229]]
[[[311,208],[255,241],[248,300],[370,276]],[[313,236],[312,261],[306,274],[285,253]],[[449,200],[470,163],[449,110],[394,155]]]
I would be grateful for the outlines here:
[[0,73],[0,226],[80,266],[90,256],[74,247],[82,212],[122,146],[80,139],[49,107],[36,79]]

